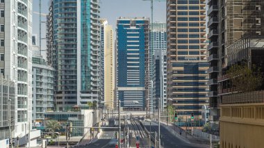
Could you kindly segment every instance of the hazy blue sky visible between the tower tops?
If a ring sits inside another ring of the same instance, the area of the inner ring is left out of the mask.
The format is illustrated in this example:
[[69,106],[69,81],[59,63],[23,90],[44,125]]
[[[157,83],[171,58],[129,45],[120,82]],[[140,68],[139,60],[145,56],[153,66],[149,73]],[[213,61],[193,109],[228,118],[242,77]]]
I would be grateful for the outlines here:
[[[108,19],[108,23],[113,25],[115,30],[118,17],[151,17],[150,1],[143,0],[100,0],[101,18]],[[33,11],[39,11],[39,1],[33,0]],[[42,13],[49,13],[49,0],[42,0]],[[154,22],[165,22],[166,2],[165,0],[154,2]],[[42,21],[45,18],[42,17]],[[38,14],[33,13],[33,34],[38,34]],[[42,24],[42,38],[46,33],[45,24]],[[42,40],[42,47],[45,41]]]

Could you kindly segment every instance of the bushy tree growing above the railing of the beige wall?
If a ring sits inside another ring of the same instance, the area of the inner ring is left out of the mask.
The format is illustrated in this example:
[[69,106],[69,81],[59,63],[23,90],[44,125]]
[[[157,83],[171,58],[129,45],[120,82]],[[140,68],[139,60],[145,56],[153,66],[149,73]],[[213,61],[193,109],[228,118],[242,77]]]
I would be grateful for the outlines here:
[[261,69],[256,66],[249,68],[247,65],[233,65],[227,74],[231,78],[232,86],[238,92],[251,92],[258,90],[263,82]]

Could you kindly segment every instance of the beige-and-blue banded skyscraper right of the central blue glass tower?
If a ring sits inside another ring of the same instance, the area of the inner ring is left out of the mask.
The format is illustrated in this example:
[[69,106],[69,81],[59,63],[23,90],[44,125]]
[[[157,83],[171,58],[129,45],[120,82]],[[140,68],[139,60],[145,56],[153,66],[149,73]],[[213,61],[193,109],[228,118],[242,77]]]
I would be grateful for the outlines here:
[[167,97],[178,115],[208,104],[205,0],[167,1]]

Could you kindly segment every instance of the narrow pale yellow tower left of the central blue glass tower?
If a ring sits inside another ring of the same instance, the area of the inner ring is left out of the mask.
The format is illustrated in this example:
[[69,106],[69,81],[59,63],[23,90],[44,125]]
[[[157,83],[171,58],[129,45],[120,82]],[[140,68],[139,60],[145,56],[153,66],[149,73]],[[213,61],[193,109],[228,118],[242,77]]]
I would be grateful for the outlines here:
[[102,67],[104,67],[103,88],[105,106],[114,108],[115,97],[115,52],[113,44],[113,27],[108,25],[106,19],[101,19],[101,52],[104,53],[102,57]]

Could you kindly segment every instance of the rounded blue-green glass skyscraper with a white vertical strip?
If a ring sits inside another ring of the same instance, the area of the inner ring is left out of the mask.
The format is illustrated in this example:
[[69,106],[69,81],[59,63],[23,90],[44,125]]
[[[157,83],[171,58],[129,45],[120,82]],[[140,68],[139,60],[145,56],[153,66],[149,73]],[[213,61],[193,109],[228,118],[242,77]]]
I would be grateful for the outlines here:
[[[48,62],[56,69],[56,108],[100,101],[99,0],[52,1]],[[78,41],[78,42],[77,42]],[[52,44],[52,45],[51,45]]]

